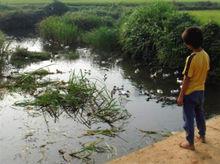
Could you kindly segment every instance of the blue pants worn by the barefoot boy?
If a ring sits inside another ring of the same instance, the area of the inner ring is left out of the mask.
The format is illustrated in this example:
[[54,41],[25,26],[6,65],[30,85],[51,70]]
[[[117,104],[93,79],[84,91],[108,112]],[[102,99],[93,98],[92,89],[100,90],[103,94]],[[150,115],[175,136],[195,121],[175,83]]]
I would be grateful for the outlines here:
[[186,140],[194,144],[194,119],[199,130],[199,135],[205,137],[206,125],[204,117],[204,91],[195,91],[184,96],[183,120],[186,131]]

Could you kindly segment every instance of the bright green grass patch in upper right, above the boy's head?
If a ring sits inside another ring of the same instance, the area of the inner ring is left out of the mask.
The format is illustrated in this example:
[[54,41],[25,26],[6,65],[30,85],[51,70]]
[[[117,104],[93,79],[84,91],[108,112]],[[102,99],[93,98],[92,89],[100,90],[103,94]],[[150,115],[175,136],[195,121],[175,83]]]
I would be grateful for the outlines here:
[[190,15],[195,16],[203,24],[210,21],[220,24],[220,10],[198,10],[188,12]]

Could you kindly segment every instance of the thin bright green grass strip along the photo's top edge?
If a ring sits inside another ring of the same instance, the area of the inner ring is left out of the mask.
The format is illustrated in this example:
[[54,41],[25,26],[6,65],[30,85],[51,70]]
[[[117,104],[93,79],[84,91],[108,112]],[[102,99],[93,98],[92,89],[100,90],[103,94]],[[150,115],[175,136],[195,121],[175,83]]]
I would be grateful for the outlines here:
[[[146,2],[155,2],[155,0],[60,0],[64,3],[70,4],[111,4],[111,3],[124,3],[124,4],[138,4]],[[164,0],[173,1],[173,0]],[[176,2],[206,2],[208,0],[175,0]],[[219,0],[209,0],[211,2],[219,2]],[[51,3],[53,0],[0,0],[3,4],[42,4]]]

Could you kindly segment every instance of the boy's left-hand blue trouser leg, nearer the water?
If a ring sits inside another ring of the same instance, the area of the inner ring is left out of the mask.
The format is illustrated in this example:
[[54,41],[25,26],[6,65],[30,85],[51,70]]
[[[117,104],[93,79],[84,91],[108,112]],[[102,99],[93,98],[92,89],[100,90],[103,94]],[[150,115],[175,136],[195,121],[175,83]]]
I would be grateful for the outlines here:
[[194,113],[195,103],[191,99],[191,95],[184,97],[183,116],[184,116],[184,129],[186,131],[186,140],[190,145],[194,144]]

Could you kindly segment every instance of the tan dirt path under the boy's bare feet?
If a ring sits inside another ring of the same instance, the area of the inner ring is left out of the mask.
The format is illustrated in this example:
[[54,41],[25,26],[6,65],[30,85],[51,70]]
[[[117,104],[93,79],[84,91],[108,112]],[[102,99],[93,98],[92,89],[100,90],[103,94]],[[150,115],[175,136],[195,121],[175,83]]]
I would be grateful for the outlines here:
[[220,116],[207,121],[207,143],[196,143],[196,151],[179,147],[184,136],[180,132],[109,164],[220,164]]

